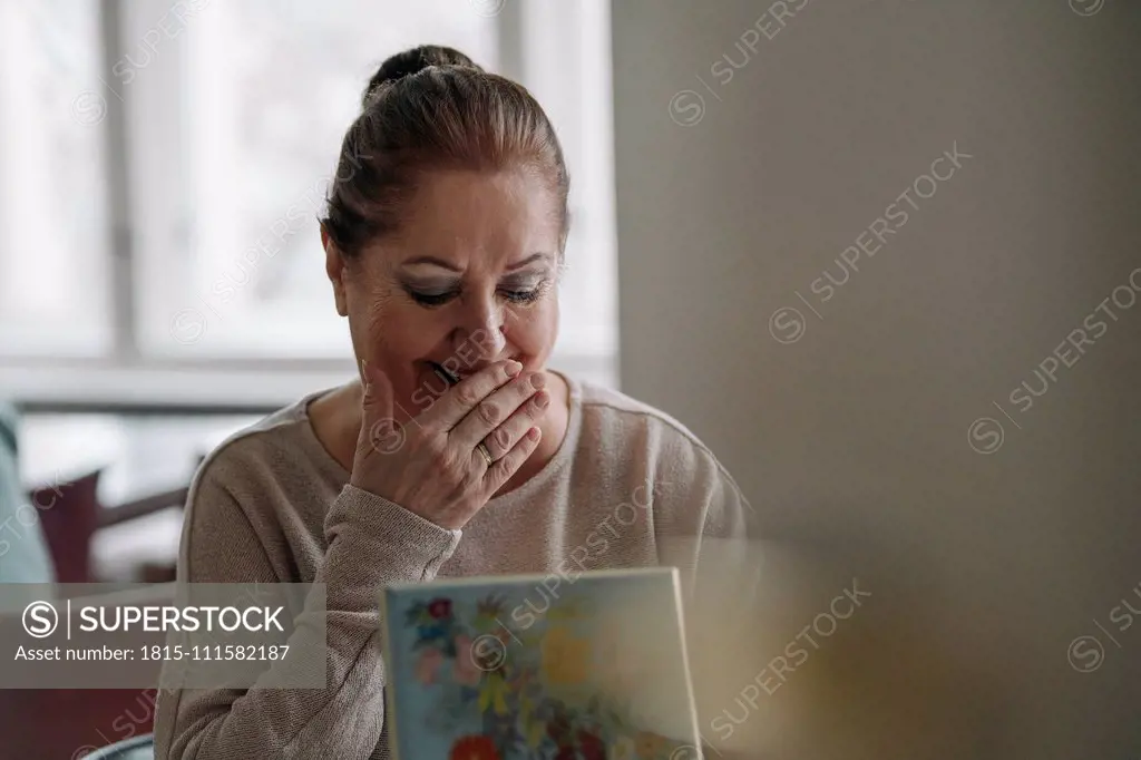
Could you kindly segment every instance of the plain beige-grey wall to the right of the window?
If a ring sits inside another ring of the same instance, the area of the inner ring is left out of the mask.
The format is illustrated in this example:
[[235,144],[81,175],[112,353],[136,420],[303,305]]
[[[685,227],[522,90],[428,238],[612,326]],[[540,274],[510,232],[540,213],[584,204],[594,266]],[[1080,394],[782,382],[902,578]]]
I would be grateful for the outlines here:
[[825,543],[799,601],[881,584],[735,741],[1141,757],[1141,301],[1099,310],[1141,298],[1141,3],[615,0],[613,34],[622,387],[799,547],[770,584]]

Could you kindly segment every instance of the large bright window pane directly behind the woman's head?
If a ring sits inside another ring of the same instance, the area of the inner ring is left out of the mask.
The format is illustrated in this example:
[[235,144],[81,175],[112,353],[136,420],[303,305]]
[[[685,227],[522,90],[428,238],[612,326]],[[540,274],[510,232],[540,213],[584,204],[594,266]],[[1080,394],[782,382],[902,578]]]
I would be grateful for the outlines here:
[[[180,199],[140,217],[168,227],[152,228],[140,251],[149,353],[350,355],[316,224],[345,129],[393,52],[436,42],[494,67],[495,18],[484,5],[227,0],[185,19],[181,74],[148,70],[140,74],[149,81],[131,86],[141,123],[160,103],[181,114],[176,128],[145,137],[179,136],[172,152],[153,154],[162,171],[136,172],[143,195]],[[170,92],[180,96],[163,100]],[[180,169],[168,170],[171,155]],[[177,191],[163,186],[172,181]]]

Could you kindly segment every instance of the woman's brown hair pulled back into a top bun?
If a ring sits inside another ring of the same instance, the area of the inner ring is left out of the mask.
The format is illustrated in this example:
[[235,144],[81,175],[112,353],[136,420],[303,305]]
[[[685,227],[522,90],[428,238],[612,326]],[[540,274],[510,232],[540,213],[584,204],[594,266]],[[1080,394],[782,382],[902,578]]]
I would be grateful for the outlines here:
[[341,144],[321,224],[346,256],[399,227],[426,171],[524,168],[557,194],[560,248],[570,178],[555,128],[521,84],[453,48],[422,46],[388,58]]

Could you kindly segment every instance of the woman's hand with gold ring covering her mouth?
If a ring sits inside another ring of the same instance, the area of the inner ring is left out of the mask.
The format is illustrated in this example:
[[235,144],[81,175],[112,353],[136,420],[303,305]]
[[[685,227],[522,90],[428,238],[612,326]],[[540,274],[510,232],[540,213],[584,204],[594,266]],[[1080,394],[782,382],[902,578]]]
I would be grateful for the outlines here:
[[542,372],[521,369],[491,364],[402,427],[393,419],[391,383],[364,363],[364,420],[349,483],[443,528],[462,528],[539,445],[535,423],[550,395]]

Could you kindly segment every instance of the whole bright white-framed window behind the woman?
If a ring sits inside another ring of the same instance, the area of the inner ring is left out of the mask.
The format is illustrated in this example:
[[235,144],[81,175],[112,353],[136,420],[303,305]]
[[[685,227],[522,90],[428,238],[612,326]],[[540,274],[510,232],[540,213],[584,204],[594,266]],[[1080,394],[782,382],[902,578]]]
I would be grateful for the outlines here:
[[316,217],[367,78],[426,41],[520,80],[555,121],[574,226],[552,363],[615,383],[608,13],[0,0],[0,394],[209,405],[245,372],[273,380],[243,398],[275,405],[346,378]]

